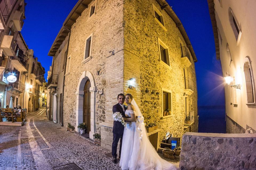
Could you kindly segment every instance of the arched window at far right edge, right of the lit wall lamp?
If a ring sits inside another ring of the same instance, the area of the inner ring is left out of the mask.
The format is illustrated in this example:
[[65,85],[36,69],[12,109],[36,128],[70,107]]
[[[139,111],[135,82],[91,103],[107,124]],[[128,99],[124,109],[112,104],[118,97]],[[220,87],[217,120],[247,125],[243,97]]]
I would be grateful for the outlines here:
[[253,73],[251,70],[251,61],[250,61],[249,57],[246,57],[245,64],[243,66],[243,70],[245,73],[247,103],[255,103]]

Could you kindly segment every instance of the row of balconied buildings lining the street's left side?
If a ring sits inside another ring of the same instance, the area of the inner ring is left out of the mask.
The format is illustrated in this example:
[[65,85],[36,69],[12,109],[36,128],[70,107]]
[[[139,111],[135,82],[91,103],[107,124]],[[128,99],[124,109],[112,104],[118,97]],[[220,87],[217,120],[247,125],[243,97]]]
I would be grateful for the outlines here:
[[20,32],[25,19],[25,2],[1,1],[0,12],[0,107],[12,104],[35,111],[39,88],[45,81],[41,74],[45,71]]

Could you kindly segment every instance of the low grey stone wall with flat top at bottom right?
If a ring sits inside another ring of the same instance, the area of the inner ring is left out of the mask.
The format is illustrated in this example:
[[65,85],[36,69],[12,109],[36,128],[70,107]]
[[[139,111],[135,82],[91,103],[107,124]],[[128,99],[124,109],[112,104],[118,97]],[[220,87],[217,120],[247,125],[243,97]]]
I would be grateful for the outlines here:
[[187,132],[182,137],[181,170],[256,169],[256,134]]

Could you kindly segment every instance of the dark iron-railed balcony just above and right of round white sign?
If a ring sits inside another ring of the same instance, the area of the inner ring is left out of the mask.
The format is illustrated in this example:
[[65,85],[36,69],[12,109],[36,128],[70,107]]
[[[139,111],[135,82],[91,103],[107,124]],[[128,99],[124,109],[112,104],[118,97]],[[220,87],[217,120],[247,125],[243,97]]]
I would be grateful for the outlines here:
[[23,54],[22,50],[19,50],[13,57],[11,57],[11,62],[16,69],[21,71],[28,71],[29,63],[26,60],[26,55]]

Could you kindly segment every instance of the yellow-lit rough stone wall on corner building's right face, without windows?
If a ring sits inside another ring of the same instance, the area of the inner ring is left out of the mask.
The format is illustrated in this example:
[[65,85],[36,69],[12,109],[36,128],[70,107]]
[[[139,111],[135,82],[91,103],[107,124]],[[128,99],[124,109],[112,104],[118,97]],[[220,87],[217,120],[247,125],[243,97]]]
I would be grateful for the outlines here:
[[[161,11],[165,31],[154,19],[152,3]],[[159,61],[158,38],[169,47],[170,66]],[[183,64],[181,62],[181,43],[186,46],[179,29],[165,10],[161,10],[155,0],[124,0],[124,92],[134,95],[146,124],[156,122],[162,129],[161,141],[167,132],[174,137],[184,133],[185,97]],[[194,93],[189,96],[189,110],[195,113],[191,130],[197,132],[197,88],[195,67],[187,68],[193,81]],[[130,89],[130,79],[135,78],[135,88]],[[162,117],[162,88],[172,92],[172,117]],[[146,90],[150,90],[146,93]],[[152,94],[151,92],[160,94]],[[188,129],[186,129],[188,130]]]

